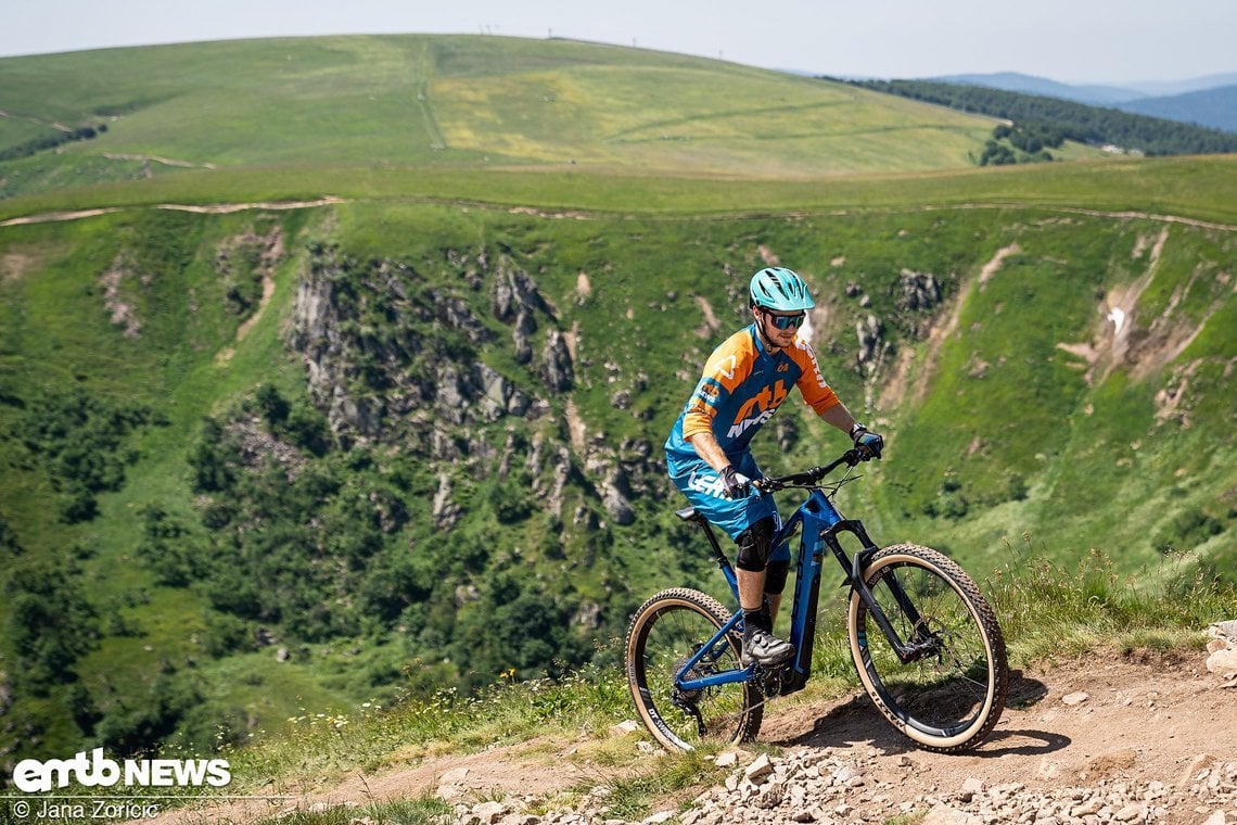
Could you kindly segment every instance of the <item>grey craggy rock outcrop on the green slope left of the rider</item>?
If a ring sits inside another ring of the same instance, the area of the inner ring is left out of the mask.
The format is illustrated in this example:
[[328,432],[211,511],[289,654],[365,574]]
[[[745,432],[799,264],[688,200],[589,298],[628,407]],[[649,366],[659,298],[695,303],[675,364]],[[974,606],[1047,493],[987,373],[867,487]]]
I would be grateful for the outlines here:
[[[289,336],[310,397],[340,442],[402,443],[442,465],[432,503],[439,527],[461,516],[448,468],[471,466],[480,477],[517,461],[544,511],[562,515],[574,477],[616,523],[633,521],[632,497],[661,477],[657,456],[647,443],[595,438],[580,455],[565,445],[553,401],[574,388],[575,365],[527,271],[505,256],[491,265],[484,250],[449,252],[444,271],[427,275],[401,262],[357,262],[334,247],[312,252]],[[444,282],[456,286],[438,286]],[[521,374],[505,375],[480,357],[482,346],[502,346],[506,336]],[[560,445],[534,435],[528,445],[508,438],[496,449],[487,428],[511,419],[546,419]]]

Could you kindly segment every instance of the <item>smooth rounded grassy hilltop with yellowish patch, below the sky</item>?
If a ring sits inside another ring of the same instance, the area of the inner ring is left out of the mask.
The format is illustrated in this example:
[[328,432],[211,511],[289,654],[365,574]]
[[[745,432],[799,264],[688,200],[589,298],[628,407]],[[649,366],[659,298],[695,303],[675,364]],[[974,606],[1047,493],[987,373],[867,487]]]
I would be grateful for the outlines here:
[[[184,168],[539,166],[803,178],[974,163],[990,119],[570,41],[235,41],[0,59],[0,194]],[[1072,152],[1087,155],[1080,148]],[[1069,155],[1069,153],[1068,153]]]

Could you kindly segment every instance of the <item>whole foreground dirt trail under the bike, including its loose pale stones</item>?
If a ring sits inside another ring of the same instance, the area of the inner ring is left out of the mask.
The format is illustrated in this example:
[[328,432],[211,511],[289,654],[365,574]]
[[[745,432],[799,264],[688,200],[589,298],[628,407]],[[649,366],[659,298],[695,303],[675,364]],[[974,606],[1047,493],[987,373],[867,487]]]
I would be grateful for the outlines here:
[[[722,784],[654,803],[642,823],[1237,823],[1237,625],[1207,652],[1095,653],[1013,674],[1009,703],[977,750],[915,748],[862,694],[774,704],[751,750],[721,753]],[[616,726],[644,761],[659,751]],[[169,811],[165,821],[251,821],[296,811],[360,810],[427,793],[460,825],[620,825],[607,779],[640,768],[581,758],[583,742],[534,742],[356,774],[277,808]],[[766,747],[772,746],[772,747]],[[583,795],[581,788],[591,788]],[[576,790],[574,795],[562,792]],[[570,806],[555,806],[555,794]]]

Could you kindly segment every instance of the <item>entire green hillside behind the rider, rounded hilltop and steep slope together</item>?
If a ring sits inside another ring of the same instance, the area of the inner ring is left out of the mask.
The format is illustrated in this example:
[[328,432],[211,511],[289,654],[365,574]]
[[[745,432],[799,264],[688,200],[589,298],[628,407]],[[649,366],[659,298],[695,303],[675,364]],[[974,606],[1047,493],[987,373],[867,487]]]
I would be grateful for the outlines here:
[[[0,78],[6,146],[121,113],[0,166],[5,759],[612,665],[646,595],[716,590],[658,455],[771,260],[889,437],[840,501],[880,539],[1231,575],[1232,157],[975,169],[980,119],[558,41]],[[844,447],[769,430],[771,470]]]

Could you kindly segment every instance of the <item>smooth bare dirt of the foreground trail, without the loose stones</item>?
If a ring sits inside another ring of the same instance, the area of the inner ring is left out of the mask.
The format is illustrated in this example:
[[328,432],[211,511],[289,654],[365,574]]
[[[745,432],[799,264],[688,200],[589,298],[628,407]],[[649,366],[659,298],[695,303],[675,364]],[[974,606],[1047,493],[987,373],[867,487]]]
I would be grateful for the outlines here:
[[[961,756],[913,747],[857,690],[820,705],[774,703],[760,742],[805,758],[860,759],[870,777],[868,793],[880,783],[883,793],[898,797],[882,799],[886,806],[961,793],[967,783],[983,783],[985,788],[1019,783],[1024,793],[1112,782],[1180,788],[1209,764],[1237,762],[1237,679],[1209,673],[1206,656],[1096,654],[1017,672],[1009,706],[997,729],[978,750]],[[643,751],[637,735],[615,735],[627,736],[631,748]],[[605,759],[588,758],[589,746],[590,740],[583,738],[542,740],[374,776],[357,772],[330,788],[288,799],[173,811],[158,821],[251,821],[292,810],[320,811],[427,793],[474,805],[512,797],[527,804],[573,787],[590,788],[633,774],[631,766],[606,767]],[[741,752],[736,769],[741,772],[753,757]],[[693,789],[687,799],[701,790]],[[664,806],[677,810],[678,801]],[[1237,821],[1237,803],[1226,820],[1196,809],[1170,810],[1169,821]],[[550,821],[550,816],[543,815],[542,821]]]

